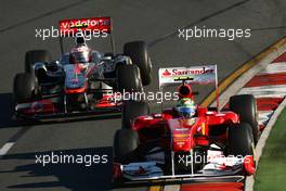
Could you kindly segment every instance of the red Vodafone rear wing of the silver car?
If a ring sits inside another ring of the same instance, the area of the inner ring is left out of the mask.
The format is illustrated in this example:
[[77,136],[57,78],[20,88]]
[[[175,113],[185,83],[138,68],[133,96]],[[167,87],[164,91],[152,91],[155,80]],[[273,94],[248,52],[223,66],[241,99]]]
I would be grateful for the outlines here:
[[115,41],[113,36],[113,23],[108,16],[90,18],[72,18],[58,22],[61,52],[64,53],[63,38],[79,37],[87,34],[105,34],[110,40],[112,52],[115,53]]

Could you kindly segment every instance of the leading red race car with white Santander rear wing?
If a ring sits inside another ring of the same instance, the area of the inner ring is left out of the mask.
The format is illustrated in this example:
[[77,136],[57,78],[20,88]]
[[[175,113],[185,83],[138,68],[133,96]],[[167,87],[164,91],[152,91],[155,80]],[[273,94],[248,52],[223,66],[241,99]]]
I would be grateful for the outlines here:
[[[179,102],[193,100],[191,85],[212,82],[218,90],[216,65],[159,69],[161,88],[181,84]],[[182,115],[182,109],[192,115]],[[114,138],[114,180],[239,181],[255,173],[257,133],[256,102],[249,94],[231,97],[230,111],[195,105],[148,114],[146,103],[126,102],[122,128]]]

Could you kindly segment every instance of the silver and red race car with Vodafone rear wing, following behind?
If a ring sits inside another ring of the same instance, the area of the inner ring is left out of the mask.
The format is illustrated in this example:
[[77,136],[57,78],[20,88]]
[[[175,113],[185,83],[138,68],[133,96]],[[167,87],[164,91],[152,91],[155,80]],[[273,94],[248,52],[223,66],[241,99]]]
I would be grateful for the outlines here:
[[[25,73],[14,78],[15,116],[46,119],[118,114],[115,92],[141,91],[151,82],[152,63],[144,41],[128,42],[123,54],[102,53],[88,47],[87,36],[110,39],[110,17],[60,22],[62,55],[52,61],[46,50],[26,53]],[[64,52],[63,37],[76,44]]]

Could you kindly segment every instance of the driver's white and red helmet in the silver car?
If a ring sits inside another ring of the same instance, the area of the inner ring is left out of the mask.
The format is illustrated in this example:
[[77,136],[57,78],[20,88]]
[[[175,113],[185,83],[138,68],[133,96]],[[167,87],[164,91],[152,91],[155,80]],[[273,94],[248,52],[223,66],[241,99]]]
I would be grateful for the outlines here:
[[72,49],[69,54],[69,62],[75,63],[88,63],[91,62],[91,51],[86,44],[77,44]]

